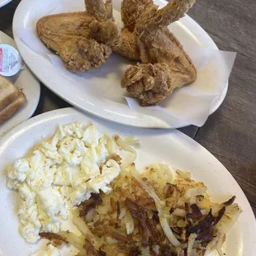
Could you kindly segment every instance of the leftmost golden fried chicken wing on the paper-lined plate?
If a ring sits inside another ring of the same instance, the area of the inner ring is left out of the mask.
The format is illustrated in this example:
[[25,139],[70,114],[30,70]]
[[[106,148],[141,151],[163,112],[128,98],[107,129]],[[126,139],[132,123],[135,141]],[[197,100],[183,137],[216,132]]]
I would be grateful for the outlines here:
[[94,21],[117,27],[112,18],[111,3],[104,4],[102,0],[86,0],[85,3],[88,12],[50,15],[42,17],[36,25],[40,40],[59,54],[70,71],[97,68],[111,55],[111,46],[93,39],[89,29]]

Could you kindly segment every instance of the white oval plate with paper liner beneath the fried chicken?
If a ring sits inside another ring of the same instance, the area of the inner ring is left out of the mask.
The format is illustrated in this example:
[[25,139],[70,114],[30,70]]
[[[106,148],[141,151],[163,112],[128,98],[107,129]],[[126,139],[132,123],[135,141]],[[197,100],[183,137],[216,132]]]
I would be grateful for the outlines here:
[[[113,15],[121,26],[121,1],[112,2]],[[164,7],[166,2],[156,0],[155,4]],[[70,7],[66,8],[67,5]],[[74,107],[109,121],[148,128],[178,128],[191,124],[201,126],[206,121],[206,117],[220,107],[227,92],[227,80],[232,67],[231,59],[234,60],[234,55],[227,60],[229,71],[223,76],[224,82],[222,81],[223,83],[216,88],[216,80],[219,79],[216,76],[218,73],[216,69],[219,70],[219,73],[225,70],[225,68],[220,68],[218,61],[225,54],[218,51],[210,36],[192,18],[183,17],[180,21],[173,23],[170,29],[183,45],[186,44],[186,50],[190,49],[189,55],[193,53],[195,55],[193,59],[197,62],[198,79],[196,81],[199,91],[197,87],[193,89],[192,93],[187,92],[192,88],[190,86],[180,88],[182,90],[178,88],[172,96],[168,97],[170,100],[164,101],[162,105],[152,109],[137,106],[134,103],[138,101],[133,102],[132,99],[128,102],[130,94],[124,94],[126,90],[121,88],[121,77],[127,64],[135,64],[135,62],[131,62],[120,55],[111,54],[107,63],[99,69],[90,69],[85,73],[73,74],[64,69],[61,59],[47,50],[45,45],[40,42],[36,36],[36,22],[41,17],[51,13],[73,11],[84,11],[83,0],[73,2],[66,0],[59,0],[58,2],[22,0],[13,19],[13,35],[22,58],[32,72],[36,74],[36,77]],[[201,52],[200,60],[197,59],[199,52]],[[202,55],[205,58],[202,58]],[[214,71],[211,69],[211,58],[214,62]],[[207,70],[211,72],[209,73]],[[222,78],[222,74],[220,76]],[[200,88],[202,87],[206,88],[206,91],[204,89],[201,91]],[[187,97],[187,93],[192,98]],[[173,111],[165,111],[166,105],[171,106]],[[197,109],[195,110],[195,108]]]

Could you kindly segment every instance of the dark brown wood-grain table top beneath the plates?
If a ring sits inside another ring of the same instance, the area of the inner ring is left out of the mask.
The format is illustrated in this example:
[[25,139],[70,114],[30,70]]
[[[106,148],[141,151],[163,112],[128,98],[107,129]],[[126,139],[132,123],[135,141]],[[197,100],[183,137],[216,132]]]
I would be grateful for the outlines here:
[[[12,36],[12,17],[20,0],[0,8],[0,31]],[[205,126],[181,129],[220,160],[244,190],[256,214],[256,1],[197,1],[189,15],[215,40],[220,50],[236,51],[225,102]],[[67,102],[41,85],[35,115]],[[220,177],[221,182],[221,177]]]

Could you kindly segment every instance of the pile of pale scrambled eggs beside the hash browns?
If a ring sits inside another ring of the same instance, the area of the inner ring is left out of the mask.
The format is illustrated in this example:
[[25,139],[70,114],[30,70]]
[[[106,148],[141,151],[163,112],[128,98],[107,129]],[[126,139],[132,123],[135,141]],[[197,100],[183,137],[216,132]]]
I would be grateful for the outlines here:
[[69,208],[88,200],[91,193],[111,192],[108,185],[121,169],[109,159],[109,140],[93,124],[59,126],[51,140],[42,141],[30,157],[8,168],[7,187],[22,199],[18,216],[26,242],[35,243],[40,232],[58,233]]

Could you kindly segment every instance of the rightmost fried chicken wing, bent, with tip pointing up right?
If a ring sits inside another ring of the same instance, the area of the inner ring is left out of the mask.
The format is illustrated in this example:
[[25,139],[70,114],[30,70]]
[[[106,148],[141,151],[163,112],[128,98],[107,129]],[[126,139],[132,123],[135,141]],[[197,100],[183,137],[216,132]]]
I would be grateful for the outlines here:
[[135,38],[143,64],[128,66],[121,86],[140,99],[142,106],[155,105],[174,88],[192,83],[197,70],[168,25],[178,21],[195,0],[173,0],[158,10],[153,5],[137,19]]

